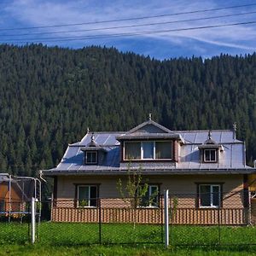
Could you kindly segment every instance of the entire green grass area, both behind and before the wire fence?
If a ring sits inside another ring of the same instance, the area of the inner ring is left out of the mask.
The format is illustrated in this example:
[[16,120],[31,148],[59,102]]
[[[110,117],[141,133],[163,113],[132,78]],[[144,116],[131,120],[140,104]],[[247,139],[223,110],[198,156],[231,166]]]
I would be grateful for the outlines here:
[[[31,245],[28,224],[0,223],[0,255],[256,255],[254,227],[170,226],[169,249],[161,243],[160,225],[102,224],[101,236],[99,229],[44,222]],[[219,241],[226,246],[219,247]]]

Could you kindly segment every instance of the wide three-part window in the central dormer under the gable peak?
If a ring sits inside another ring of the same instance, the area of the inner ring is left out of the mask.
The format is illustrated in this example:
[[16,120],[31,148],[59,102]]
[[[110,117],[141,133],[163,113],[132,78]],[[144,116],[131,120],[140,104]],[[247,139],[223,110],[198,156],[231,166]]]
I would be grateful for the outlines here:
[[172,142],[125,142],[125,160],[172,160]]

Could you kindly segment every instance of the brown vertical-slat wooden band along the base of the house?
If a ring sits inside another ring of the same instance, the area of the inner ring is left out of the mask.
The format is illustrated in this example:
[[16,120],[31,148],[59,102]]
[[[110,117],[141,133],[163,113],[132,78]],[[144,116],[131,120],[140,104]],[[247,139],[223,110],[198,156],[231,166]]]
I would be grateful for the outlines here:
[[[100,212],[101,211],[101,212]],[[100,214],[101,213],[101,214]],[[160,208],[74,208],[53,207],[51,220],[55,222],[162,224],[163,209]],[[245,208],[170,209],[170,224],[247,224]]]

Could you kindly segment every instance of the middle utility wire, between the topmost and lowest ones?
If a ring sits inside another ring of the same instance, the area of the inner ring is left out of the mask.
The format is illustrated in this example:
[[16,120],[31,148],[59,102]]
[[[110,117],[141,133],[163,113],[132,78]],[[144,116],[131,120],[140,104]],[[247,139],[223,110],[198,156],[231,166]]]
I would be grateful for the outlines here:
[[241,16],[241,15],[253,15],[253,14],[256,14],[256,11],[241,13],[241,14],[233,14],[233,15],[218,15],[218,16],[210,16],[210,17],[204,17],[204,18],[188,19],[188,20],[172,20],[172,21],[144,23],[144,24],[127,25],[127,26],[109,26],[109,27],[99,27],[99,28],[90,28],[90,29],[82,29],[82,30],[69,30],[69,31],[60,31],[60,32],[32,32],[32,33],[24,33],[24,34],[0,34],[0,37],[17,37],[17,36],[21,37],[21,36],[45,35],[45,34],[104,31],[104,30],[119,29],[119,28],[131,28],[131,27],[138,27],[138,26],[155,26],[155,25],[165,25],[165,24],[173,24],[173,23],[180,23],[180,22],[198,21],[198,20],[212,20],[212,19],[218,19],[218,18],[226,18],[226,17],[233,17],[233,16]]

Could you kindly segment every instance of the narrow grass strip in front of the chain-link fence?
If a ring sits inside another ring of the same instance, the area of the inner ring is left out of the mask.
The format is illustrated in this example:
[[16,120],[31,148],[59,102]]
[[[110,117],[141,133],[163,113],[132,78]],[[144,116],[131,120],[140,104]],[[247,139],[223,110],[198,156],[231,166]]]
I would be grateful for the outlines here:
[[166,249],[162,245],[133,245],[133,246],[49,246],[36,245],[2,245],[0,255],[137,255],[137,256],[158,256],[158,255],[256,255],[255,247],[178,247]]

